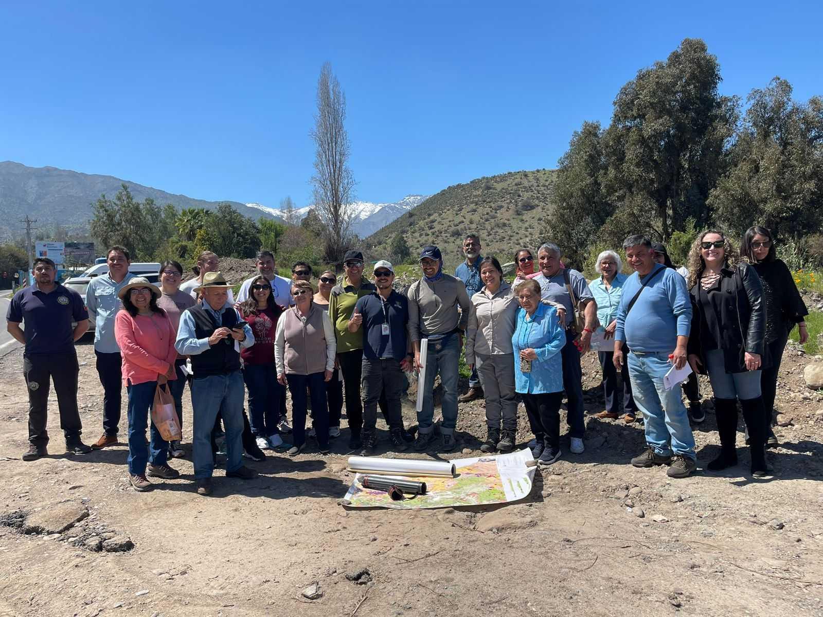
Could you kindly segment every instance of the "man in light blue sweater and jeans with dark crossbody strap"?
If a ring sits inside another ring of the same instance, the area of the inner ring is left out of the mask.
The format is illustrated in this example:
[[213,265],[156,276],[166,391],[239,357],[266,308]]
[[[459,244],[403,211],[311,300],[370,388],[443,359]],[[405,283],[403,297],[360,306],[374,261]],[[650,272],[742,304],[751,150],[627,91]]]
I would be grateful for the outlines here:
[[[623,248],[635,274],[625,281],[617,308],[614,364],[618,371],[624,362],[628,364],[635,403],[645,420],[647,444],[631,464],[669,465],[669,477],[685,478],[697,468],[695,437],[680,388],[667,390],[663,376],[672,364],[677,369],[686,364],[691,327],[689,292],[677,271],[654,260],[651,240],[632,235],[625,239]],[[628,357],[624,343],[630,350]]]

